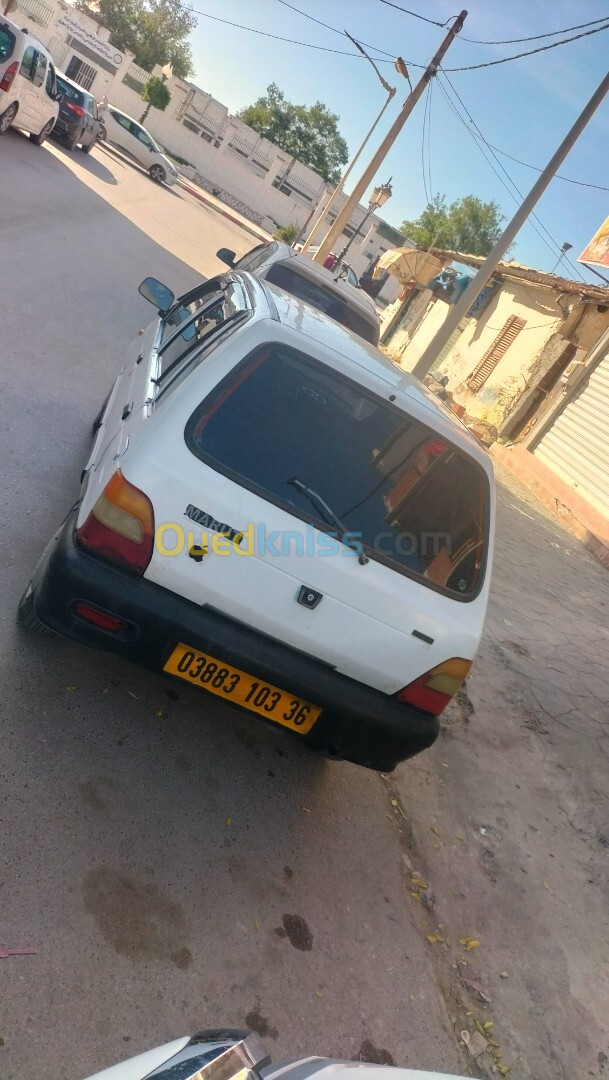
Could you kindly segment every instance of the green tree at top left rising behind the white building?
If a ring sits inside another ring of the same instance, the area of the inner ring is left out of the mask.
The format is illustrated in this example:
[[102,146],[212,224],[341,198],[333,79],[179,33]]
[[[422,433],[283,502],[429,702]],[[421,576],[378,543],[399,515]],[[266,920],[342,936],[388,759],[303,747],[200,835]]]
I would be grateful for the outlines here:
[[78,0],[77,8],[110,31],[117,49],[135,53],[147,71],[171,60],[180,79],[194,73],[187,39],[197,18],[180,0]]

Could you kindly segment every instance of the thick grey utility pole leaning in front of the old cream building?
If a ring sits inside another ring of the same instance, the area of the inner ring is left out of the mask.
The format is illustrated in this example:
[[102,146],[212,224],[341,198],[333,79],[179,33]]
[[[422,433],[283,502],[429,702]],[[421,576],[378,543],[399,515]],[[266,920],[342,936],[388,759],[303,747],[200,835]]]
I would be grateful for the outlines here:
[[490,254],[487,255],[486,260],[483,262],[477,274],[472,278],[468,288],[457,303],[451,308],[437,334],[434,338],[432,338],[423,354],[417,361],[412,369],[412,375],[415,375],[418,379],[422,379],[433,367],[442,349],[448,342],[450,335],[457,329],[463,315],[466,314],[476,297],[478,297],[482,293],[502,255],[504,255],[510,247],[510,244],[514,240],[516,233],[526,221],[533,206],[545,191],[552,177],[556,173],[557,168],[559,168],[563,164],[565,158],[569,153],[569,150],[577,143],[588,120],[594,114],[608,91],[609,71],[605,76],[600,85],[595,90],[590,102],[576,120],[571,130],[560,143],[560,146],[556,150],[554,157],[549,161],[539,179],[533,184],[524,202],[520,206],[518,206],[518,210],[514,214],[510,225],[503,231]]

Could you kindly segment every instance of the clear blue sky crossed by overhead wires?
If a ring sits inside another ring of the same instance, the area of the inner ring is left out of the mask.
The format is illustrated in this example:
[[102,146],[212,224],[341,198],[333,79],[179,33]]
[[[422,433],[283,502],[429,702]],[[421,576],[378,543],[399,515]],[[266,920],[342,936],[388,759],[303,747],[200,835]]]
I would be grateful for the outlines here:
[[[370,65],[357,58],[348,39],[341,32],[317,25],[313,18],[338,31],[347,29],[358,41],[375,46],[376,51],[369,50],[371,55],[390,54],[383,56],[378,66],[384,78],[397,87],[368,144],[371,152],[408,92],[391,57],[398,54],[407,63],[425,65],[446,30],[405,14],[382,0],[289,2],[292,8],[281,0],[231,0],[230,4],[226,0],[191,0],[193,9],[216,16],[216,19],[229,19],[324,49],[344,50],[349,55],[273,40],[200,14],[191,37],[197,72],[193,81],[228,106],[231,112],[261,96],[270,82],[275,82],[295,104],[312,105],[321,100],[339,116],[340,132],[350,152],[354,152],[387,95]],[[445,23],[459,10],[455,0],[396,2],[438,23]],[[550,0],[470,0],[462,33],[446,54],[444,67],[488,63],[559,40],[560,36],[529,43],[490,45],[468,42],[464,38],[496,42],[561,30],[604,16],[609,23],[609,0],[552,0],[552,3]],[[524,162],[543,167],[605,76],[608,59],[609,30],[605,30],[536,56],[479,70],[455,71],[448,78],[489,143]],[[415,83],[421,71],[412,66],[409,72]],[[448,83],[444,86],[463,113]],[[496,200],[508,220],[516,206],[514,195],[505,190],[485,161],[471,134],[451,110],[437,80],[433,81],[430,93],[424,141],[425,96],[418,103],[376,177],[377,184],[393,177],[393,197],[383,207],[383,217],[394,226],[400,226],[404,219],[416,218],[428,202],[427,190],[433,194],[439,192],[448,201],[466,194]],[[486,152],[488,154],[488,150]],[[367,150],[361,161],[367,160],[366,153]],[[508,158],[499,156],[499,160],[526,193],[538,174]],[[492,164],[508,184],[497,163]],[[609,188],[609,95],[560,172],[573,179]],[[358,166],[354,175],[358,175]],[[518,233],[512,258],[541,270],[552,270],[564,242],[573,245],[569,256],[574,261],[609,215],[609,190],[554,179],[536,213],[554,245],[533,221],[542,232],[542,238],[538,235],[529,219]],[[585,268],[580,267],[580,271],[586,280],[600,284]],[[565,265],[559,272],[566,276],[574,273]]]

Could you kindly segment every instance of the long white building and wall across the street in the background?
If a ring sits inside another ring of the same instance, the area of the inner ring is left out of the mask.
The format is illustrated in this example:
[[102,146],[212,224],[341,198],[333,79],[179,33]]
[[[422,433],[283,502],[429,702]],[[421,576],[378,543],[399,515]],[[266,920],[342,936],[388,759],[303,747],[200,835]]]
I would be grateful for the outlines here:
[[[98,102],[106,95],[112,105],[139,119],[145,109],[140,95],[150,72],[138,67],[133,55],[116,49],[105,27],[63,0],[16,0],[14,4],[11,0],[10,17],[48,45],[60,70]],[[152,73],[163,78],[159,68]],[[287,225],[304,228],[322,197],[331,190],[325,180],[232,117],[212,94],[182,79],[170,78],[166,83],[170,105],[164,112],[150,109],[146,126],[186,175],[268,232]],[[344,198],[320,228],[320,239]],[[349,261],[357,275],[401,242],[400,233],[376,214],[368,218],[361,238],[358,228],[366,213],[367,207],[356,206],[337,241],[340,252],[356,237]],[[380,294],[381,305],[393,300],[396,292],[390,279]]]

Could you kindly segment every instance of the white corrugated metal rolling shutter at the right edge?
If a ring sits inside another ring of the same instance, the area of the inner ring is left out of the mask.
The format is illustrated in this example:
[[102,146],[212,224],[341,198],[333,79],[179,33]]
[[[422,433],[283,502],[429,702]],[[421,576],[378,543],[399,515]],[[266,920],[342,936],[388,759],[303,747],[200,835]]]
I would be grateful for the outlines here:
[[534,453],[609,514],[609,354],[563,409]]

